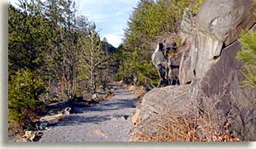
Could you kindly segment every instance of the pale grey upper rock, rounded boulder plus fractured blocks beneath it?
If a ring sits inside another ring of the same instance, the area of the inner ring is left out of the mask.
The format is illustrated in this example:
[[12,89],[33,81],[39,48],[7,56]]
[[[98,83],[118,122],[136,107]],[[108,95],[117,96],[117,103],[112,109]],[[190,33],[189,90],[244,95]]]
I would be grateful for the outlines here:
[[251,28],[254,23],[250,0],[206,1],[199,11],[197,32],[187,57],[183,56],[181,83],[204,77],[218,61],[221,51],[238,39],[241,30]]

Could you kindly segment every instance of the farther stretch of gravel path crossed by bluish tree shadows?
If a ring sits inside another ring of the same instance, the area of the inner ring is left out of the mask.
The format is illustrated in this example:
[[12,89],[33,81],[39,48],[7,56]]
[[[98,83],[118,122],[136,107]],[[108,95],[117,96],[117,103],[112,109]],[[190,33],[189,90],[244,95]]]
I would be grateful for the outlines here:
[[127,112],[135,108],[135,95],[123,86],[112,85],[116,88],[114,96],[107,101],[91,107],[73,107],[73,114],[64,116],[58,123],[50,124],[49,127],[75,126],[85,123],[102,123],[116,117],[131,117]]

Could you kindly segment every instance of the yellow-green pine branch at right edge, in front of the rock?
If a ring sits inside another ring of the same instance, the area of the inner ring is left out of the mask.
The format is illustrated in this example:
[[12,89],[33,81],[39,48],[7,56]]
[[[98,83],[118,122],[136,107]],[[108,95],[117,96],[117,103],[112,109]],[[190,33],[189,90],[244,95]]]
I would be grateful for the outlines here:
[[239,51],[238,58],[244,62],[244,83],[256,87],[256,32],[244,32],[240,38],[243,50]]

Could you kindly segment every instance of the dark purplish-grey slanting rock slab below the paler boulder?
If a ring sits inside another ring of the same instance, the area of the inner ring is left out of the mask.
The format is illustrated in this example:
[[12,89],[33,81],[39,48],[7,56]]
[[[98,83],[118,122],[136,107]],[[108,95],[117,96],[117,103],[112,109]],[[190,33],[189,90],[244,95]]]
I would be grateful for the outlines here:
[[197,99],[201,107],[208,104],[203,95],[216,99],[216,106],[212,108],[229,117],[235,137],[252,141],[256,139],[256,91],[241,86],[243,63],[236,59],[240,49],[239,41],[223,49],[218,61],[193,86],[192,98]]

